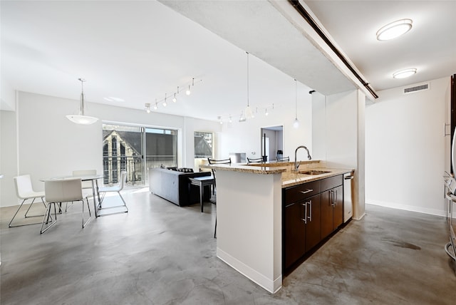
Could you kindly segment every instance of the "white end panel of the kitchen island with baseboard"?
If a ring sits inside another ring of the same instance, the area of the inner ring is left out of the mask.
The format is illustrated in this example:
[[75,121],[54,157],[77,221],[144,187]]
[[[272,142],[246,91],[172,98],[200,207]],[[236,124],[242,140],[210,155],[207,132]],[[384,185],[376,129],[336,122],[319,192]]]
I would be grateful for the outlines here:
[[281,174],[217,170],[217,257],[267,291],[281,288]]

